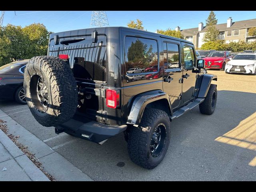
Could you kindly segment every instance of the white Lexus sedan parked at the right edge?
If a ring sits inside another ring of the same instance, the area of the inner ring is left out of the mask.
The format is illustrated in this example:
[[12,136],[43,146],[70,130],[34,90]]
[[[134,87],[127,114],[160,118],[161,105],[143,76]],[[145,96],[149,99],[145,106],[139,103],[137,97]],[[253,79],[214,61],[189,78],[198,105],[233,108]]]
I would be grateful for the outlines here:
[[240,53],[225,67],[226,73],[246,73],[256,75],[256,53]]

